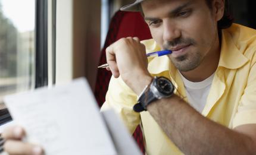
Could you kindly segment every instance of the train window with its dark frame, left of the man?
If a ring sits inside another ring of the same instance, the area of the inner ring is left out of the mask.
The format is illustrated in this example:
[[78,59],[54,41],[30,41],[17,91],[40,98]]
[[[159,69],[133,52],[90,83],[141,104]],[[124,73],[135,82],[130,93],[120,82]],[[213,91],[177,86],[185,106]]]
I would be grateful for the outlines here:
[[48,83],[47,20],[48,1],[0,0],[0,125],[11,121],[5,95]]

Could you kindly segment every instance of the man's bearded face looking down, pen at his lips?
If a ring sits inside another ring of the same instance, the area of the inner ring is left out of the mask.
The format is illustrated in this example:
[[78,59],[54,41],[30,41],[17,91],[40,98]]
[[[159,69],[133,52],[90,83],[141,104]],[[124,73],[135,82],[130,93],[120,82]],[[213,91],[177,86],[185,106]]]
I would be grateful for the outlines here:
[[[205,0],[148,0],[142,10],[152,37],[180,71],[198,67],[218,45],[217,20]],[[211,61],[211,59],[207,60]]]

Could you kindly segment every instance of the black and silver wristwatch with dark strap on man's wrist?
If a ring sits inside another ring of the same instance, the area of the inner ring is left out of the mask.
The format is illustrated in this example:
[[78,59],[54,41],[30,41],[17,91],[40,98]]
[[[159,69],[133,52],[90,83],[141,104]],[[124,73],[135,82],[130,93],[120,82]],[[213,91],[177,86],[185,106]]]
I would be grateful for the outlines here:
[[151,83],[139,95],[138,103],[133,106],[135,112],[146,111],[146,106],[155,100],[170,97],[174,86],[166,77],[154,77]]

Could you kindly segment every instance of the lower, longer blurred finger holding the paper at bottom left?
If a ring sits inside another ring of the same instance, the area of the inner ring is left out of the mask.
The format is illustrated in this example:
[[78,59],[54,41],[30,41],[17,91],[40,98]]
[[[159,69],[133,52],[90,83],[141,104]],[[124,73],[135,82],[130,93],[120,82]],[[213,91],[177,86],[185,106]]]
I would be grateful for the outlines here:
[[21,141],[15,141],[15,140],[8,140],[4,144],[4,150],[7,151],[8,154],[33,154],[33,155],[39,155],[43,154],[43,149],[29,143],[23,143]]

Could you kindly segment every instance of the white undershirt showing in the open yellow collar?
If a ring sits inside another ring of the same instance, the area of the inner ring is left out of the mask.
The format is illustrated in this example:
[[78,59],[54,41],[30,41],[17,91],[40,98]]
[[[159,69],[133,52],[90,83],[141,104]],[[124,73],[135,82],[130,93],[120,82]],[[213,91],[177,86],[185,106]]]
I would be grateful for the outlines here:
[[211,83],[213,82],[214,74],[198,83],[193,83],[187,80],[181,73],[180,76],[182,77],[185,86],[189,104],[199,113],[202,113],[211,88]]

